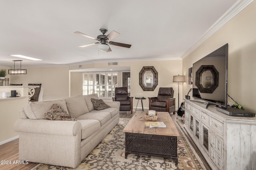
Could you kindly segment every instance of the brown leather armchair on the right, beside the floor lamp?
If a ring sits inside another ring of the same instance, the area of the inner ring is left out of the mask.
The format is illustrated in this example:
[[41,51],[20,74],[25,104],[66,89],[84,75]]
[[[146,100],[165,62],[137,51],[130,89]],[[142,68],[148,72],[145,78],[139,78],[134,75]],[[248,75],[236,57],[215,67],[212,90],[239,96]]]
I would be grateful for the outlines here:
[[160,87],[157,97],[148,98],[149,110],[166,111],[175,114],[175,98],[172,87]]

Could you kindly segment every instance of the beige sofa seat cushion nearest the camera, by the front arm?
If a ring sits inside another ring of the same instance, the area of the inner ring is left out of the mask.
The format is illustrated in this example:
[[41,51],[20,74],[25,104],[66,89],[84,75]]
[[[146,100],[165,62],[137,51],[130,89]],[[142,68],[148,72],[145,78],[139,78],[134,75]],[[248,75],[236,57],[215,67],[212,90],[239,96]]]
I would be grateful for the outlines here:
[[100,121],[92,119],[78,120],[81,123],[82,139],[87,138],[100,129]]

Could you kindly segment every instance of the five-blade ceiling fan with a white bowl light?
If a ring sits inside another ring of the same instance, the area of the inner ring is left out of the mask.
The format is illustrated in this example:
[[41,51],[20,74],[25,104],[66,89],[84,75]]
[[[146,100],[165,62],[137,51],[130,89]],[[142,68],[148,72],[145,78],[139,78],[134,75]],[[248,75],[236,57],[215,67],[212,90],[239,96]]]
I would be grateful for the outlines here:
[[100,45],[98,45],[98,49],[100,51],[110,52],[112,50],[110,49],[109,44],[110,45],[116,45],[116,46],[119,46],[119,47],[126,47],[126,48],[130,48],[132,46],[130,44],[124,44],[124,43],[118,43],[118,42],[111,41],[112,39],[114,39],[118,35],[120,35],[120,33],[116,32],[116,31],[111,31],[108,35],[105,35],[105,33],[107,31],[108,31],[107,29],[101,28],[100,32],[102,33],[102,35],[98,35],[97,38],[92,37],[90,35],[86,35],[86,34],[81,33],[79,31],[76,31],[74,33],[76,33],[78,35],[82,35],[82,36],[90,38],[90,39],[95,39],[95,40],[98,41],[96,43],[90,43],[90,44],[86,44],[86,45],[81,45],[79,47],[89,47],[91,45],[100,44]]

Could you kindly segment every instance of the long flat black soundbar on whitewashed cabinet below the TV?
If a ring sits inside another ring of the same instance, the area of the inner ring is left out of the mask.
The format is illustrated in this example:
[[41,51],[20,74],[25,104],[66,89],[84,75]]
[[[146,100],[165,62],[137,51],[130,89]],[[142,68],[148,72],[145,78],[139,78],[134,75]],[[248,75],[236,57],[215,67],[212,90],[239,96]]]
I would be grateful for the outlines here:
[[250,113],[248,111],[238,109],[235,107],[216,107],[216,110],[225,113],[230,116],[241,116],[241,117],[255,117],[255,113]]

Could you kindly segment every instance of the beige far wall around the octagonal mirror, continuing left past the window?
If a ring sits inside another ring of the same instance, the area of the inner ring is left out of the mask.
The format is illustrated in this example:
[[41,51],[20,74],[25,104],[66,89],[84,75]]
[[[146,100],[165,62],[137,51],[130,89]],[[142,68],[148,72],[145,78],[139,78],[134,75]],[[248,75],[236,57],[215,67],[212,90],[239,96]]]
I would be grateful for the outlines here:
[[[130,66],[131,74],[131,96],[144,96],[146,98],[157,96],[159,87],[173,87],[176,98],[176,108],[178,108],[178,84],[172,82],[175,75],[182,74],[182,60],[172,61],[145,61],[145,62],[120,62],[117,66]],[[143,91],[139,85],[139,72],[143,66],[154,66],[158,72],[158,86],[154,91]],[[82,68],[109,67],[108,63],[94,63],[82,65]],[[44,88],[43,100],[53,100],[76,96],[82,94],[82,73],[70,72],[78,69],[78,66],[70,67],[35,67],[26,68],[28,74],[11,75],[11,83],[42,83]],[[69,78],[70,74],[70,78]],[[122,84],[122,72],[118,73],[118,83]],[[70,83],[69,83],[70,79]],[[70,86],[70,88],[69,88]],[[182,84],[180,84],[180,103],[182,102]],[[134,99],[134,105],[137,100]],[[144,108],[148,108],[148,99],[143,100]],[[136,107],[136,105],[134,106]],[[139,102],[138,108],[141,107]]]

